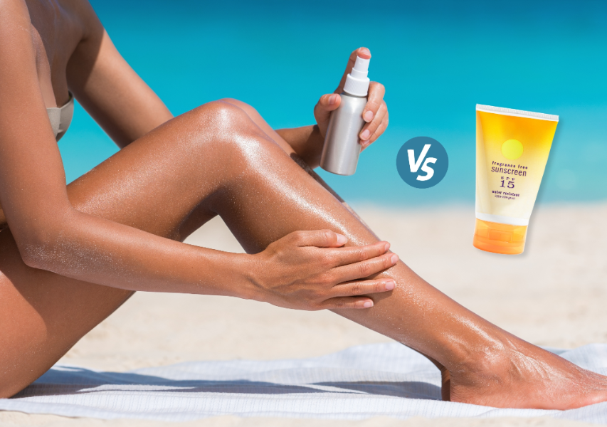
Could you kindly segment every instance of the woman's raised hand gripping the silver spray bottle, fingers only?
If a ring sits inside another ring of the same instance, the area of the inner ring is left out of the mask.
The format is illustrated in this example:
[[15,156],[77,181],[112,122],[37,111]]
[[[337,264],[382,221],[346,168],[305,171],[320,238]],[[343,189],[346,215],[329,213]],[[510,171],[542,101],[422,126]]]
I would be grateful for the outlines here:
[[[346,76],[352,71],[357,56],[368,59],[371,58],[371,52],[369,52],[369,49],[367,48],[358,48],[356,51],[352,52],[342,81],[339,82],[337,89],[334,93],[322,95],[317,105],[314,107],[314,117],[316,118],[318,128],[323,138],[327,132],[327,127],[329,126],[331,112],[337,110],[337,107],[339,107],[341,102],[339,94],[344,90]],[[384,133],[386,127],[388,127],[388,107],[386,107],[386,102],[384,101],[384,93],[386,93],[386,90],[381,83],[371,82],[369,84],[369,100],[366,102],[366,107],[364,107],[362,113],[366,125],[364,125],[359,134],[362,149],[369,147],[369,145],[375,142],[376,139]]]

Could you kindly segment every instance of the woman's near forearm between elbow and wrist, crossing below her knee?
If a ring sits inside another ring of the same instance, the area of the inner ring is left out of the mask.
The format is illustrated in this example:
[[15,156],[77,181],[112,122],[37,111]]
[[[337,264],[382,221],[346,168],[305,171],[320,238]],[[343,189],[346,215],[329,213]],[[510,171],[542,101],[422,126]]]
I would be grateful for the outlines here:
[[126,290],[253,297],[252,255],[199,248],[70,211],[59,233],[21,251],[26,263]]

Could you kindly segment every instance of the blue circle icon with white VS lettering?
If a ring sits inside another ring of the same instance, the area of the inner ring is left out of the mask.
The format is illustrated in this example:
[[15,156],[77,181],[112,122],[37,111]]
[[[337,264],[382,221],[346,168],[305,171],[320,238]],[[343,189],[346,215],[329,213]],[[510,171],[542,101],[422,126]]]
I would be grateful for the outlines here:
[[396,169],[410,186],[429,189],[443,180],[449,157],[443,144],[430,137],[415,137],[403,144],[396,154]]

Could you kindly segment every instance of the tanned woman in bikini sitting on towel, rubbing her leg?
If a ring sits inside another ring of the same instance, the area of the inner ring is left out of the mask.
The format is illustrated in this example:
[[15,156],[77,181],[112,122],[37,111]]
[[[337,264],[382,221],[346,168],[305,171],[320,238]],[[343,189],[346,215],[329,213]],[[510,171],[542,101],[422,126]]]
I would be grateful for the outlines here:
[[[356,54],[370,55],[355,51],[349,67]],[[68,88],[123,149],[66,186],[56,138]],[[374,83],[363,147],[387,125],[383,95]],[[0,0],[0,100],[1,397],[147,290],[332,309],[433,360],[452,401],[607,400],[606,377],[450,300],[323,186],[311,169],[338,95],[320,98],[317,125],[276,132],[236,100],[173,118],[86,0]],[[216,215],[248,254],[180,242]]]

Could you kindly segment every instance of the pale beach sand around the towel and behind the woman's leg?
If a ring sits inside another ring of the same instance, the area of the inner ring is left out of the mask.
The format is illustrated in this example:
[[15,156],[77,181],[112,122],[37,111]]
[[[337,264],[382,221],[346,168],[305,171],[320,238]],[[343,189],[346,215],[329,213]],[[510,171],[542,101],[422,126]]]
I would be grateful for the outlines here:
[[[607,342],[607,204],[538,206],[523,255],[472,246],[468,206],[398,211],[358,209],[376,234],[428,282],[534,344],[572,348]],[[187,243],[241,252],[216,218]],[[285,310],[228,297],[139,292],[60,360],[124,371],[190,360],[315,357],[357,344],[389,342],[331,312]],[[1,412],[1,426],[174,426],[174,423],[63,418]],[[583,426],[550,418],[371,418],[323,421],[217,417],[183,426]]]

